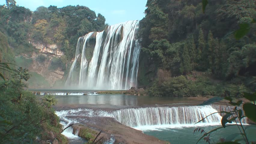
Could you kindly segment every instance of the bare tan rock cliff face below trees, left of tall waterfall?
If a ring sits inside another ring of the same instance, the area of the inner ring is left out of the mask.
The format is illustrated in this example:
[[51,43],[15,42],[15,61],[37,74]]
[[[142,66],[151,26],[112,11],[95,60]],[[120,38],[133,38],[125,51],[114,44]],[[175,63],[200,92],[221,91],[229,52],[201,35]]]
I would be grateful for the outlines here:
[[66,63],[64,53],[56,44],[40,44],[29,41],[35,46],[32,55],[21,53],[16,55],[15,62],[19,67],[27,68],[32,75],[28,81],[29,88],[53,88],[54,83],[63,79]]

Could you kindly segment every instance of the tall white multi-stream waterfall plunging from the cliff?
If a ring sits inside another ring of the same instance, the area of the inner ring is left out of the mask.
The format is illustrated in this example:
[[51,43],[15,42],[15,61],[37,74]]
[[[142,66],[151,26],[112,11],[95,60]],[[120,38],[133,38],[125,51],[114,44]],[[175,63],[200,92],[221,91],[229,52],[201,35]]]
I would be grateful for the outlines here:
[[128,21],[80,37],[65,85],[102,90],[136,87],[140,53],[138,29],[139,21]]

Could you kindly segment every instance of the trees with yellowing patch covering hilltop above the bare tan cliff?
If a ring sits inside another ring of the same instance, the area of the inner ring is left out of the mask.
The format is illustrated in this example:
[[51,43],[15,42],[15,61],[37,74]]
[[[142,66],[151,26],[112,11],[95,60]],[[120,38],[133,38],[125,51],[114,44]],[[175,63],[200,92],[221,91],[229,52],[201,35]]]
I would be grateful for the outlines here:
[[8,36],[10,46],[30,54],[33,43],[57,44],[70,60],[75,56],[77,40],[92,31],[105,28],[105,18],[85,6],[38,7],[34,12],[7,0],[0,5],[0,31]]

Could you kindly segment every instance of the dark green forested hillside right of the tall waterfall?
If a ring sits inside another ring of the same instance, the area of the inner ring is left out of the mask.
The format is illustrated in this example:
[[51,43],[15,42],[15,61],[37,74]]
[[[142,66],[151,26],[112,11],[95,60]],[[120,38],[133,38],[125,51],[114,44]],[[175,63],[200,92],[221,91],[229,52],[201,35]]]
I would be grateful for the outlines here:
[[[255,1],[209,0],[205,14],[202,0],[148,0],[146,7],[140,22],[140,85],[153,85],[153,95],[255,91]],[[236,40],[234,31],[246,25],[248,34]],[[192,76],[197,81],[191,83],[191,72],[208,76],[201,83]]]

